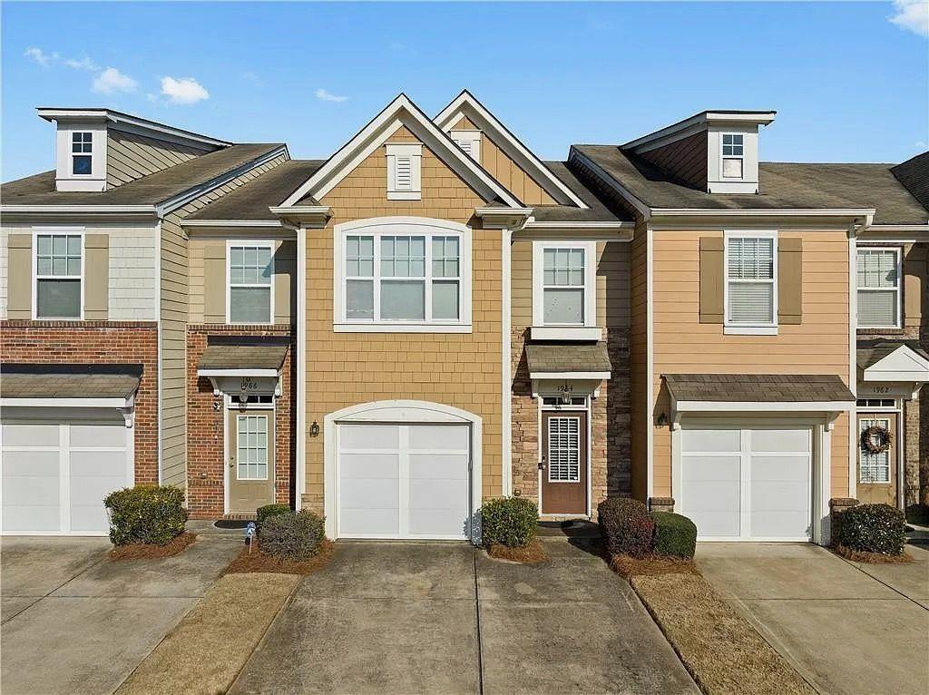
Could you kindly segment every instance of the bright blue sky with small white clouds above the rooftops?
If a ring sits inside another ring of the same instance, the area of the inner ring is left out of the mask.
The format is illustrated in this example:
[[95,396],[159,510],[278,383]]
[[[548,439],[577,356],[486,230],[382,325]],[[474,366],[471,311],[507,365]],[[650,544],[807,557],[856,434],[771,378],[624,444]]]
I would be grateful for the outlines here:
[[2,177],[53,166],[36,106],[324,158],[400,91],[434,114],[463,87],[544,159],[742,108],[779,111],[765,160],[898,162],[929,142],[924,7],[6,2]]

